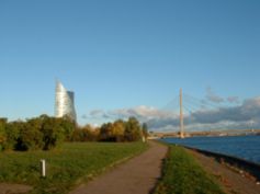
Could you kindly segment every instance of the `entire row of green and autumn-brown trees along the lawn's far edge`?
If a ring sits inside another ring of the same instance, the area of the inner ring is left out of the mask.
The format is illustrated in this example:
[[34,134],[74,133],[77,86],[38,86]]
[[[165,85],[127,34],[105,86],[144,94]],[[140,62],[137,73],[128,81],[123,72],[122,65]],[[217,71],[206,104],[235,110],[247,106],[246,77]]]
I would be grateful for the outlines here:
[[64,141],[137,141],[148,135],[135,117],[100,127],[77,126],[69,117],[41,115],[26,121],[0,118],[0,150],[50,150]]

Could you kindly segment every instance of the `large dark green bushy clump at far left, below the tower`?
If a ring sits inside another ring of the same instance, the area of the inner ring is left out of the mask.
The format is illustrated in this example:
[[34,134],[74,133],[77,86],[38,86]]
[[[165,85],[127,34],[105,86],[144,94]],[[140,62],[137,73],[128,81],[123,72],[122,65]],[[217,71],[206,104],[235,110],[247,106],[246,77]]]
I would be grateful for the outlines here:
[[75,127],[76,124],[67,117],[42,115],[11,123],[0,118],[0,149],[49,150],[69,139]]

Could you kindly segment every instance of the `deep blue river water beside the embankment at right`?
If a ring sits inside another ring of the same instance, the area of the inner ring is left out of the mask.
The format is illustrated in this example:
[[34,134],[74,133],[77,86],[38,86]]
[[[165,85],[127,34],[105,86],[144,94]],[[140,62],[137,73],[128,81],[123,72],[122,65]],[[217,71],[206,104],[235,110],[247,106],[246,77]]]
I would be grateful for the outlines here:
[[162,141],[225,153],[260,163],[260,136],[165,138]]

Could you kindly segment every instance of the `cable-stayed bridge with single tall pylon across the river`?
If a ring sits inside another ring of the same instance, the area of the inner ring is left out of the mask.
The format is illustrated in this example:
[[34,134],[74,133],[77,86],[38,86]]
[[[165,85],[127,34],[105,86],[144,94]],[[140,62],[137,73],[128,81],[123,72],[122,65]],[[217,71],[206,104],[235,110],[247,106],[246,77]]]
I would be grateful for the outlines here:
[[224,136],[260,133],[259,129],[253,128],[253,119],[239,124],[236,122],[235,112],[238,107],[200,100],[182,92],[181,89],[180,94],[161,109],[171,116],[174,126],[172,132],[163,134],[184,138],[194,135]]

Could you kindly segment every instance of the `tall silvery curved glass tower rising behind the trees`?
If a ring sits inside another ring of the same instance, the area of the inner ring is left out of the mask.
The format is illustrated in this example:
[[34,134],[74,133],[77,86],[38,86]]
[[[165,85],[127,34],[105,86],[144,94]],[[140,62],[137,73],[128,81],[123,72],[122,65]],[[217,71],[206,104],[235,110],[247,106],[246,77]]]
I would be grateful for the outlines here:
[[67,89],[59,81],[57,81],[55,92],[55,116],[68,116],[76,122],[77,115],[74,100],[74,92],[67,91]]

